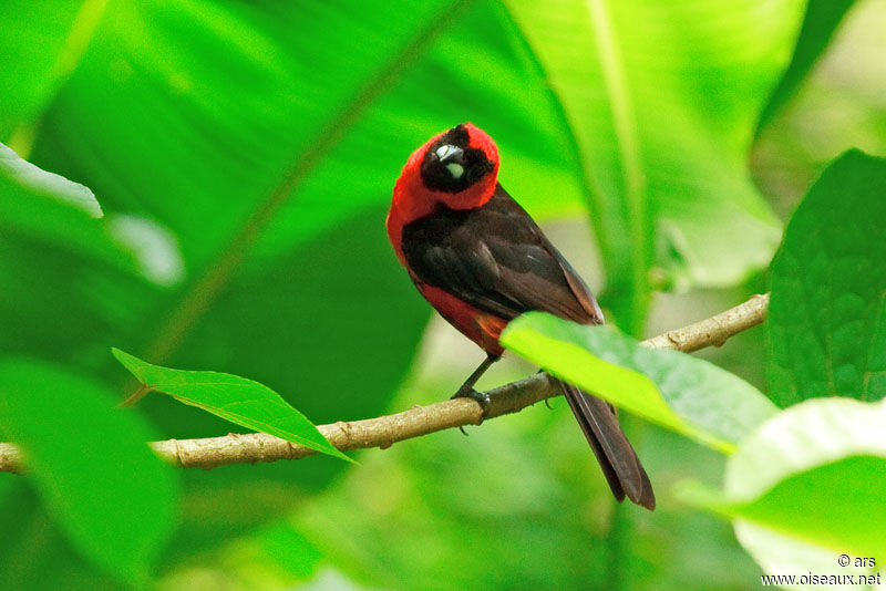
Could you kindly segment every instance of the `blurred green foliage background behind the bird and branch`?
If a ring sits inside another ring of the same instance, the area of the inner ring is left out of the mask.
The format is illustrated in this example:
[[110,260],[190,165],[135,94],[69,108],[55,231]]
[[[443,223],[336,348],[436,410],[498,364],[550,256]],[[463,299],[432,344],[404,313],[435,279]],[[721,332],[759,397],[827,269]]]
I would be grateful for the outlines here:
[[[119,346],[260,381],[317,424],[447,397],[482,353],[432,318],[383,221],[408,155],[463,121],[609,319],[705,318],[765,289],[826,162],[886,154],[885,28],[883,0],[8,3],[0,142],[105,217],[0,219],[0,356],[123,398]],[[762,388],[763,351],[758,330],[702,355]],[[758,587],[729,525],[670,492],[719,485],[722,457],[628,418],[659,508],[616,506],[553,405],[359,466],[185,470],[155,584]],[[231,431],[162,396],[136,412],[163,438]],[[0,475],[0,502],[4,587],[119,588],[29,480]]]

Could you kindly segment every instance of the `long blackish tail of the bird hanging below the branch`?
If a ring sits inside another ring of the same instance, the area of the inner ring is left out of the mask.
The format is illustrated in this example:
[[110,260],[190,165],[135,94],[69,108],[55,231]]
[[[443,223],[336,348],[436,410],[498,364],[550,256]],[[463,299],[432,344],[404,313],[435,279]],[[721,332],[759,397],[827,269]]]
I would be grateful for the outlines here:
[[627,495],[637,505],[650,511],[655,509],[656,494],[652,492],[649,476],[609,404],[566,382],[560,382],[560,387],[590,448],[594,449],[594,455],[597,456],[597,462],[600,463],[612,495],[619,502]]

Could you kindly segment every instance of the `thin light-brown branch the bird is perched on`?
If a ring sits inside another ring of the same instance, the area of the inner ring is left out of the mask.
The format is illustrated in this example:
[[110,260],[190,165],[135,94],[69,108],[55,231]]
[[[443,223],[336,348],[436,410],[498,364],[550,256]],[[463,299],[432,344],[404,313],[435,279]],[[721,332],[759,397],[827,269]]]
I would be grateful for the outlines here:
[[[746,302],[696,324],[668,331],[641,344],[651,349],[677,349],[684,352],[720,346],[727,339],[763,322],[769,294],[754,296]],[[545,373],[538,373],[488,392],[491,404],[486,419],[516,413],[543,400],[558,396],[560,390]],[[390,447],[396,442],[464,425],[480,425],[480,405],[468,398],[413,406],[409,411],[363,421],[332,423],[317,428],[342,450]],[[279,459],[299,459],[317,452],[265,433],[229,434],[203,439],[152,442],[156,454],[183,468],[215,468],[228,464],[255,464]],[[20,471],[21,450],[14,444],[0,443],[0,471]]]

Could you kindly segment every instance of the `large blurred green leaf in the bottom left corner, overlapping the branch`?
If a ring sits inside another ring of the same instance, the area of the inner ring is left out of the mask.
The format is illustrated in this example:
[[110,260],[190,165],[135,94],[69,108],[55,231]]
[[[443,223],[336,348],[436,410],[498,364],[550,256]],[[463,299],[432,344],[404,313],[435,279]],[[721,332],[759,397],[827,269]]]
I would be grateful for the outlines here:
[[86,558],[143,584],[173,530],[176,481],[147,447],[153,429],[113,404],[54,365],[0,362],[0,431],[21,445],[50,512]]

